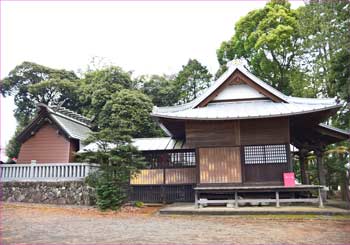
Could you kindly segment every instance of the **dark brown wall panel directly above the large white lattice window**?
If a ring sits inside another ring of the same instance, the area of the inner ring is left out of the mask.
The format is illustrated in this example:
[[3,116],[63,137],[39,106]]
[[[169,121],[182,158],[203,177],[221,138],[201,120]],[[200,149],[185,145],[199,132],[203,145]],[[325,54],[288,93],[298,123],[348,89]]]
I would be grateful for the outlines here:
[[241,145],[289,143],[288,118],[242,120]]

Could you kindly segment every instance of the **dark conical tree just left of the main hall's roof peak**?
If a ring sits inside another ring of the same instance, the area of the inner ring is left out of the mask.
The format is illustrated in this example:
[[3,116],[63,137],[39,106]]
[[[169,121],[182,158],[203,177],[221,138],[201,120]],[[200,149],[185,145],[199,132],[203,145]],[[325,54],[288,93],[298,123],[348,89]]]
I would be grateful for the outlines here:
[[197,98],[210,86],[212,75],[196,59],[190,59],[175,78],[176,89],[180,92],[180,103],[187,103]]

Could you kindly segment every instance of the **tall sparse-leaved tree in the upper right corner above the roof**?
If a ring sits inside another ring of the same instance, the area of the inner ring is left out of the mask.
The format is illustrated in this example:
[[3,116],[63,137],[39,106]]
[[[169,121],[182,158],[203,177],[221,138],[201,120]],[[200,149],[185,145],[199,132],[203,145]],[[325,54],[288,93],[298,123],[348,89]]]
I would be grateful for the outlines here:
[[309,75],[311,82],[318,87],[317,93],[323,96],[337,96],[341,90],[336,87],[335,76],[344,79],[346,69],[350,69],[347,66],[349,15],[348,1],[311,1],[298,9],[301,59],[304,61],[300,69]]

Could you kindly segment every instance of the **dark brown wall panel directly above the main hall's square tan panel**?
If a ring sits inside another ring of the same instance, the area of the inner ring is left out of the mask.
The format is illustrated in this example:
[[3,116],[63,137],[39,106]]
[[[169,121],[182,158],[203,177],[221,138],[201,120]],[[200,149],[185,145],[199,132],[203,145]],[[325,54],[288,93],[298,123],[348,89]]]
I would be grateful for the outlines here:
[[237,146],[239,121],[187,121],[186,144],[190,147]]

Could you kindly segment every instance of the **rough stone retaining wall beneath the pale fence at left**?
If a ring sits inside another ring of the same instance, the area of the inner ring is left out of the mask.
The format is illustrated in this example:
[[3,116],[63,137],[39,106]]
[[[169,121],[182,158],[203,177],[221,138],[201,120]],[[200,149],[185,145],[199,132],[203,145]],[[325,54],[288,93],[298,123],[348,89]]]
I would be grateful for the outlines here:
[[3,182],[1,200],[47,204],[94,205],[95,190],[82,181]]

